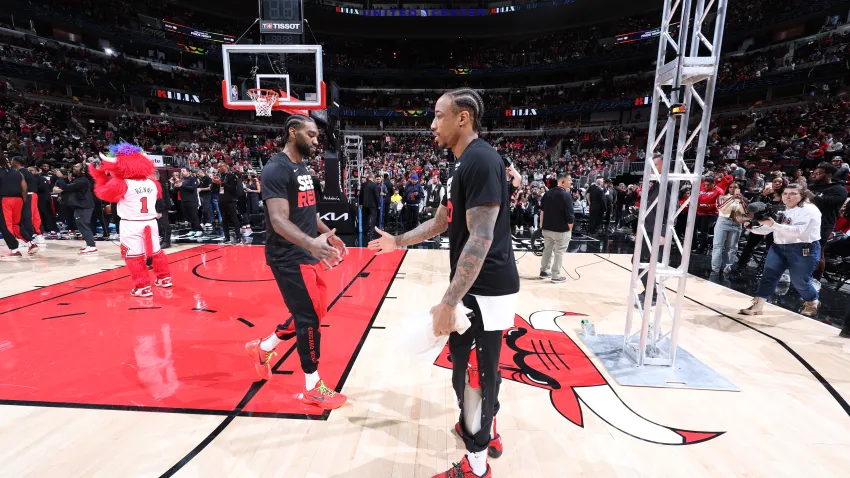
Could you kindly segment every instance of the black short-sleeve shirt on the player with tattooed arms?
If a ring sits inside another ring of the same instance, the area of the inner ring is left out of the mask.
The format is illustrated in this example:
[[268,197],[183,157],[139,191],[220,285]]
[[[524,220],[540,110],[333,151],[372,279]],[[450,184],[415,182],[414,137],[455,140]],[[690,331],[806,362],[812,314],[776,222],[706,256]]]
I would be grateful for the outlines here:
[[469,239],[466,211],[485,204],[499,204],[493,244],[484,259],[470,294],[509,295],[519,292],[519,274],[514,259],[510,223],[510,184],[505,181],[505,163],[498,151],[475,139],[458,158],[449,177],[443,206],[448,209],[449,265],[454,278],[460,253]]

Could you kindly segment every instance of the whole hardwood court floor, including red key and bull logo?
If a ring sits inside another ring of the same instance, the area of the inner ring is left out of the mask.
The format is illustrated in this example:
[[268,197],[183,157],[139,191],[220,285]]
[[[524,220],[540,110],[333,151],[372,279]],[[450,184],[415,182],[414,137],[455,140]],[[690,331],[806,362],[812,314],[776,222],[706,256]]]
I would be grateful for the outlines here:
[[[262,247],[172,249],[174,289],[137,299],[103,244],[0,262],[0,476],[418,478],[461,458],[444,357],[398,345],[444,292],[446,251],[352,249],[329,273],[320,373],[349,403],[321,413],[295,399],[292,343],[269,382],[245,357],[286,318]],[[494,476],[848,473],[850,341],[834,327],[773,306],[738,316],[746,296],[693,278],[680,344],[741,391],[622,387],[577,334],[585,318],[623,333],[631,257],[569,254],[558,285],[517,257]]]

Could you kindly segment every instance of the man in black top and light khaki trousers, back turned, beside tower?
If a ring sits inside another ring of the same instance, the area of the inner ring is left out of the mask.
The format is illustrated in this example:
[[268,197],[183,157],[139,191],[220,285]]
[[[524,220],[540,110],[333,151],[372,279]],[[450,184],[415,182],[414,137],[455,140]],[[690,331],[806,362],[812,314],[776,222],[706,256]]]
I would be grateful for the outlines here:
[[558,173],[558,186],[546,191],[541,199],[543,257],[540,261],[540,277],[551,276],[552,282],[567,280],[561,275],[561,263],[564,260],[564,253],[570,246],[575,222],[573,196],[570,194],[572,183],[573,178],[568,173]]

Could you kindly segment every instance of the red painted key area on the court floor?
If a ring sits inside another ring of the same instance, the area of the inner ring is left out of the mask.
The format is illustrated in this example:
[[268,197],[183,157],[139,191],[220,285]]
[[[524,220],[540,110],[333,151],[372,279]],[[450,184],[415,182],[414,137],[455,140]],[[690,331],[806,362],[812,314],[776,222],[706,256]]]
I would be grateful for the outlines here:
[[[289,317],[264,248],[168,257],[174,287],[151,298],[129,295],[122,267],[0,299],[0,404],[327,417],[297,399],[295,339],[278,346],[272,380],[254,384],[245,342]],[[403,257],[351,249],[325,273],[319,373],[328,387],[341,389]]]

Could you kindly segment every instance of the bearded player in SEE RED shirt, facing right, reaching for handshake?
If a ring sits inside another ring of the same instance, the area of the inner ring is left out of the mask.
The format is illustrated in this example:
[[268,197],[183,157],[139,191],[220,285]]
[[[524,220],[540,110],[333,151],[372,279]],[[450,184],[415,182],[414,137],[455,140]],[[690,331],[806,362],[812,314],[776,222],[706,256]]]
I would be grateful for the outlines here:
[[319,144],[316,123],[307,116],[292,115],[284,131],[286,146],[263,168],[261,180],[269,231],[266,263],[291,316],[268,337],[245,344],[245,351],[260,378],[269,380],[275,347],[294,336],[305,377],[302,400],[332,410],[341,407],[346,397],[327,388],[319,378],[319,324],[328,307],[323,265],[337,265],[347,250],[335,230],[316,214],[313,179],[303,164]]

